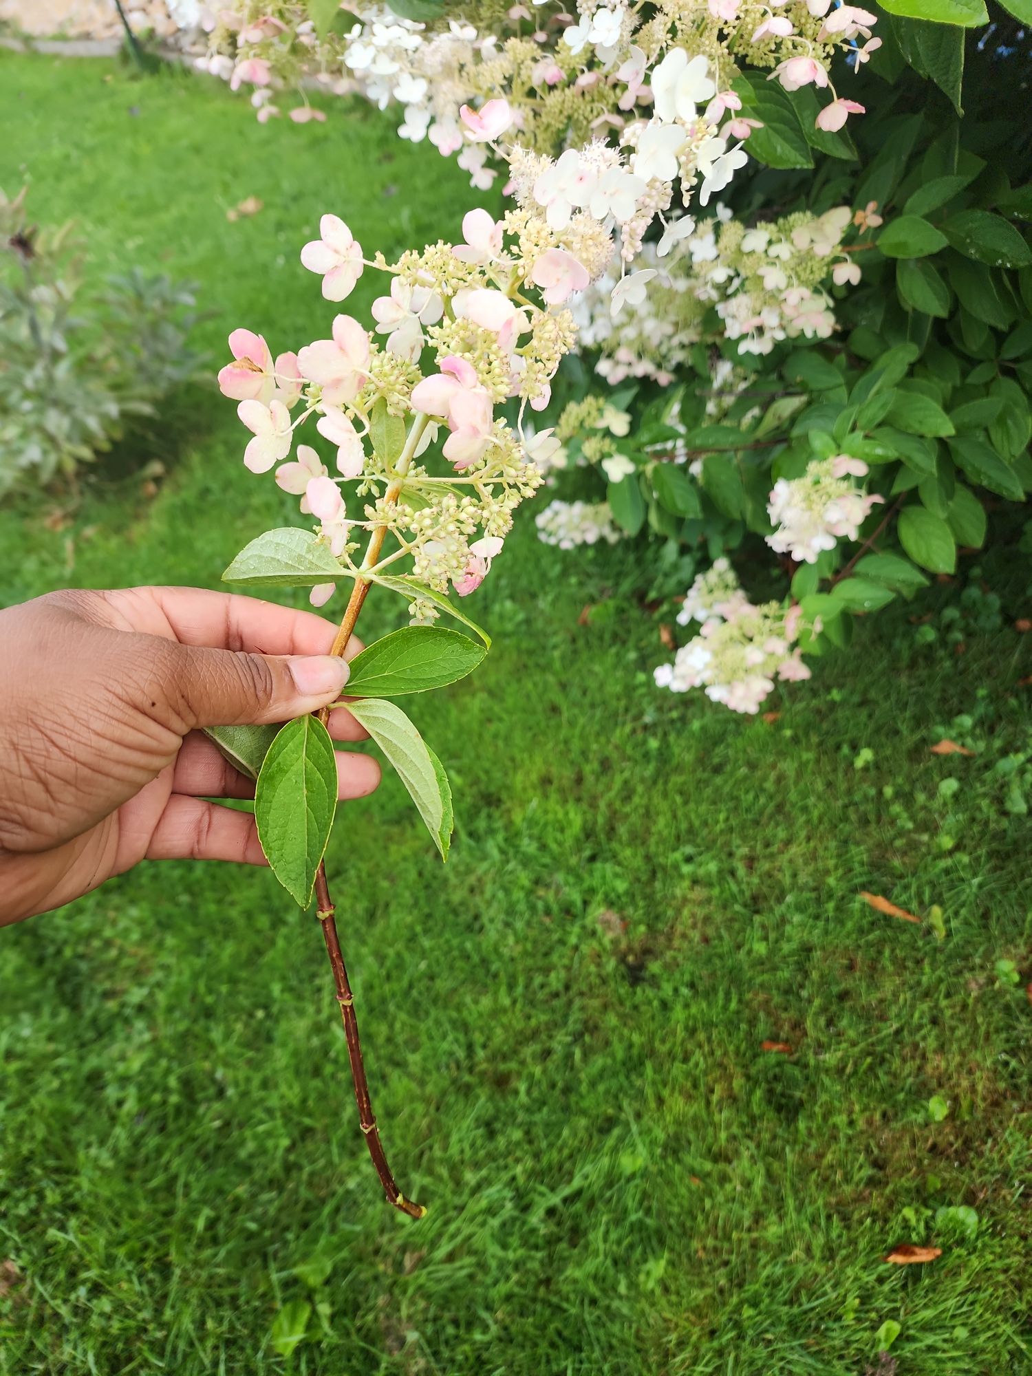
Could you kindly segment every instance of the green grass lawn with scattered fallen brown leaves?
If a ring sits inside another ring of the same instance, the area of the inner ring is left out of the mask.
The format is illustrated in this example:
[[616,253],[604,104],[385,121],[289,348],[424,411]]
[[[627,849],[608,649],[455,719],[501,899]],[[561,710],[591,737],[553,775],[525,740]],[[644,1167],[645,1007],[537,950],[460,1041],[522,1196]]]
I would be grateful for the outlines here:
[[[323,209],[389,256],[472,204],[365,106],[260,128],[186,74],[4,54],[0,128],[0,184],[74,216],[95,266],[204,283],[219,356],[235,325],[279,350],[329,321],[297,263]],[[102,476],[63,528],[0,512],[0,600],[213,585],[289,515],[215,392],[147,443],[157,495]],[[1032,1372],[1028,559],[969,575],[959,623],[936,586],[859,626],[746,721],[652,687],[640,552],[531,527],[476,597],[487,663],[416,710],[457,793],[449,866],[394,779],[329,860],[428,1216],[383,1203],[314,918],[264,872],[142,868],[0,933],[0,1372]],[[374,597],[366,636],[395,611]],[[903,1241],[943,1255],[886,1265]]]

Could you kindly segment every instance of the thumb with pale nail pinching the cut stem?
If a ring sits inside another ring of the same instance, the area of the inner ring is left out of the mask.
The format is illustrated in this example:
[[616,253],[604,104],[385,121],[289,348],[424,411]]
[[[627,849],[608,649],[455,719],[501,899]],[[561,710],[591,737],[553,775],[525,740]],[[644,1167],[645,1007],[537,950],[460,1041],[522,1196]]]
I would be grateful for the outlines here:
[[293,721],[334,702],[348,681],[348,666],[336,655],[169,648],[166,699],[191,728]]

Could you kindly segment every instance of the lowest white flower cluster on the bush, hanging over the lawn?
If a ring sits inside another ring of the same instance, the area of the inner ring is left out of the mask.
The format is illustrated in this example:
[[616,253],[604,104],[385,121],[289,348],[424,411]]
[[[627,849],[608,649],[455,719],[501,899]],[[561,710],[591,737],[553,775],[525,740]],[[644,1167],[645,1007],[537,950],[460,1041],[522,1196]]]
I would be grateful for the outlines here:
[[753,605],[727,560],[700,574],[677,618],[700,621],[699,634],[682,645],[670,665],[659,665],[655,681],[671,692],[702,688],[711,702],[732,711],[757,713],[775,680],[809,678],[798,647],[801,611],[777,603]]

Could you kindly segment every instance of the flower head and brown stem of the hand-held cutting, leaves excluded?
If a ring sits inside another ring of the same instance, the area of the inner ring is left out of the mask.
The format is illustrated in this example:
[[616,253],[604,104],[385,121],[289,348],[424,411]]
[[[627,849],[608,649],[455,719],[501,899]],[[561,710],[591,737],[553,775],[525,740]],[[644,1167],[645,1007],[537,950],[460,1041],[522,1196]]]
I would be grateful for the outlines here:
[[[465,111],[464,118],[494,146],[513,122],[513,111],[497,102],[494,111]],[[689,150],[710,138],[710,127],[699,120],[677,138],[691,157]],[[548,405],[552,380],[574,347],[577,326],[567,303],[601,278],[614,259],[626,266],[659,204],[670,204],[674,178],[680,175],[687,202],[699,175],[688,162],[674,161],[663,184],[638,153],[632,154],[637,168],[632,171],[601,143],[559,160],[520,147],[502,153],[495,146],[495,153],[509,160],[515,208],[499,222],[486,211],[469,212],[462,244],[429,245],[394,264],[381,255],[370,261],[348,226],[325,215],[321,237],[304,245],[301,261],[322,278],[327,301],[350,296],[366,267],[391,274],[389,296],[372,308],[376,333],[387,336],[384,345],[343,314],[334,318],[330,338],[296,354],[274,358],[266,340],[246,329],[228,340],[233,361],[219,373],[219,385],[238,402],[239,418],[252,432],[246,466],[256,473],[275,468],[278,486],[300,498],[303,515],[318,520],[311,537],[316,567],[330,572],[336,561],[341,577],[351,578],[333,644],[337,655],[347,648],[372,583],[396,559],[411,560],[414,577],[402,586],[411,594],[414,623],[435,619],[450,589],[466,597],[479,588],[502,549],[513,510],[541,486],[539,465],[559,449],[550,431],[535,433],[524,417],[527,407],[539,411]],[[614,312],[641,299],[643,277],[648,279],[648,274],[621,275]],[[428,351],[436,373],[422,370]],[[517,407],[515,425],[495,417],[495,406],[506,400]],[[340,476],[330,476],[310,444],[297,444],[292,458],[296,432],[312,417],[336,450]],[[443,431],[447,438],[439,444]],[[438,444],[443,473],[428,466]],[[348,517],[344,483],[355,483],[365,499],[363,519]],[[356,528],[369,531],[361,564],[354,560]],[[472,538],[477,530],[480,537]],[[388,534],[398,549],[383,559]],[[322,605],[337,581],[334,572],[333,581],[318,583],[312,604]],[[329,711],[319,716],[325,724]],[[376,1127],[325,864],[314,888],[361,1127],[387,1198],[418,1218],[422,1208],[398,1189]]]

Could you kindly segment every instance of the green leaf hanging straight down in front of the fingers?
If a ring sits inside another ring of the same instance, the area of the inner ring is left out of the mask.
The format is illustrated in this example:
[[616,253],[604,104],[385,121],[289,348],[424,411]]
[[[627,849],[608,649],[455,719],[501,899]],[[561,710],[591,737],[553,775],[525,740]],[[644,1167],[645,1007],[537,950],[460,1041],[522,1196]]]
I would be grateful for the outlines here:
[[337,810],[337,757],[318,717],[289,721],[255,786],[255,821],[272,874],[303,908]]

